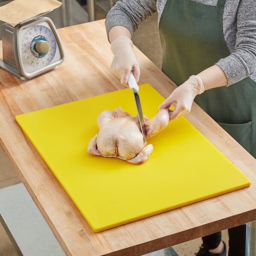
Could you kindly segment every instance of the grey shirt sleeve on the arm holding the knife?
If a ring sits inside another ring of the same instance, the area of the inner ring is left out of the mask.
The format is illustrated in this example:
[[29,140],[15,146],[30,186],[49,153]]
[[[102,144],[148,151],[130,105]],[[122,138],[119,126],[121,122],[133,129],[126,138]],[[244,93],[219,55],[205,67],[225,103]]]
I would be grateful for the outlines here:
[[119,0],[106,15],[106,33],[109,34],[114,26],[123,26],[133,35],[143,20],[149,19],[155,12],[155,0]]

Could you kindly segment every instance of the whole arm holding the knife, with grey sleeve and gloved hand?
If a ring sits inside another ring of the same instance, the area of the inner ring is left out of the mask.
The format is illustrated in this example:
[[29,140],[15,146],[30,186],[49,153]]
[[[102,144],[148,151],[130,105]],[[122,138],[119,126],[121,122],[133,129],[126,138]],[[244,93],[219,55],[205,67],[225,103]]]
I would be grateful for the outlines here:
[[121,77],[120,82],[125,86],[131,71],[136,81],[139,81],[139,61],[134,53],[131,38],[143,20],[156,12],[155,2],[155,0],[119,0],[106,16],[106,32],[114,54],[111,69]]

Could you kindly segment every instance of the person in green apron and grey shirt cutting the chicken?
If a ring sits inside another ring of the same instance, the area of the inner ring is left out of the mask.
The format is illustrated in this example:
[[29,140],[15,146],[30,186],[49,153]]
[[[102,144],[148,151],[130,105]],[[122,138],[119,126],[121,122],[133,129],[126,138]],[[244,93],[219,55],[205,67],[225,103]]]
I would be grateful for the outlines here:
[[[180,85],[159,108],[173,104],[170,119],[176,119],[190,111],[195,99],[256,157],[256,1],[119,0],[105,25],[114,53],[111,68],[123,84],[131,71],[139,80],[131,38],[156,11],[162,70]],[[245,225],[228,231],[228,255],[245,255]],[[196,255],[226,255],[221,232],[203,237]]]

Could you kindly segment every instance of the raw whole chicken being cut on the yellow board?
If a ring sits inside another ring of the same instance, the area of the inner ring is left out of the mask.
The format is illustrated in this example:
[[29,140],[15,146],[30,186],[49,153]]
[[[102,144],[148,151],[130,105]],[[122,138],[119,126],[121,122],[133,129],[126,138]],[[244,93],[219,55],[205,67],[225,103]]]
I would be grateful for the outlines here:
[[[152,119],[144,116],[146,138],[162,131],[169,122],[169,109],[161,109]],[[121,108],[103,111],[97,118],[99,132],[88,145],[88,153],[103,157],[115,157],[134,164],[144,163],[153,151],[146,144],[140,130],[138,116],[131,116]]]

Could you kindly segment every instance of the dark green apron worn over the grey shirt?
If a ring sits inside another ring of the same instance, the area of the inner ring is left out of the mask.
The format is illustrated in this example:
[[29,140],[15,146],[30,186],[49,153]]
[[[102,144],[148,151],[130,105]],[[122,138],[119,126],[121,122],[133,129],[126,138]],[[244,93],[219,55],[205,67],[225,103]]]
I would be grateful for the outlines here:
[[[167,0],[159,23],[163,72],[176,84],[230,54],[222,26],[225,0],[209,6]],[[195,101],[256,158],[256,83],[249,77],[198,95]]]

